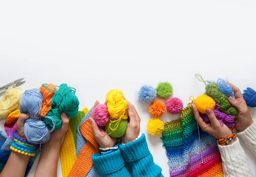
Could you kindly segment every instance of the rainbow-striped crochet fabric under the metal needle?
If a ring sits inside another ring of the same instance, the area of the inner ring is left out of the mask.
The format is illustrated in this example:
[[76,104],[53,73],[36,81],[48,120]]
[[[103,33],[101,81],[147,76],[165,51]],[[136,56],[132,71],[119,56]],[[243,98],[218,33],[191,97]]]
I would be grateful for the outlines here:
[[161,138],[169,160],[170,177],[223,177],[215,137],[200,128],[204,161],[201,164],[198,126],[192,108],[183,108],[180,117],[179,120],[165,123]]

